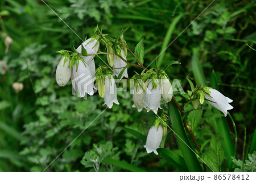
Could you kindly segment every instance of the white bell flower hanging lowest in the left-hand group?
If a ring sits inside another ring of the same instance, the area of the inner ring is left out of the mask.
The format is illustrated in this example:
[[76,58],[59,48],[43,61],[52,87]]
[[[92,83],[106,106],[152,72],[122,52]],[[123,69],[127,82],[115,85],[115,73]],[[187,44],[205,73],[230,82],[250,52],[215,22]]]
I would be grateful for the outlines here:
[[117,86],[115,85],[115,80],[113,76],[109,79],[109,76],[105,77],[105,94],[104,94],[104,101],[103,105],[107,105],[110,109],[113,106],[113,103],[119,105],[117,101]]

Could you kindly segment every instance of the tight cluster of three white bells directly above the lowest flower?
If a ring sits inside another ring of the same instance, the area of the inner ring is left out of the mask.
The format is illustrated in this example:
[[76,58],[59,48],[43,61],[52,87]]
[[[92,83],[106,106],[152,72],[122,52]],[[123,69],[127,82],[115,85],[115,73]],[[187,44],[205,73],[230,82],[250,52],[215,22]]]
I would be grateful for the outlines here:
[[[144,82],[146,92],[143,92],[141,85],[134,86],[133,94],[133,107],[136,107],[138,111],[142,111],[143,108],[149,112],[154,111],[155,114],[158,113],[158,108],[160,107],[161,96],[164,102],[170,102],[173,96],[173,90],[170,80],[164,76],[163,79],[156,80],[157,87],[154,88],[152,80],[147,80]],[[149,82],[149,83],[148,83]],[[148,86],[147,86],[148,84]]]

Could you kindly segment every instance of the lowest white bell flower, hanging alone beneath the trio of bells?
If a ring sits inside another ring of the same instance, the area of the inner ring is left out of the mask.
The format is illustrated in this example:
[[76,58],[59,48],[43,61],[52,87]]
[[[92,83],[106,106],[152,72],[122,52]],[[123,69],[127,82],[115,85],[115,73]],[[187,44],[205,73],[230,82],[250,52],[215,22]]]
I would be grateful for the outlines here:
[[158,152],[156,151],[157,148],[159,148],[160,143],[162,142],[163,138],[163,128],[161,125],[157,128],[155,125],[150,128],[147,134],[147,142],[144,148],[146,148],[147,153],[154,152],[156,155],[158,155]]

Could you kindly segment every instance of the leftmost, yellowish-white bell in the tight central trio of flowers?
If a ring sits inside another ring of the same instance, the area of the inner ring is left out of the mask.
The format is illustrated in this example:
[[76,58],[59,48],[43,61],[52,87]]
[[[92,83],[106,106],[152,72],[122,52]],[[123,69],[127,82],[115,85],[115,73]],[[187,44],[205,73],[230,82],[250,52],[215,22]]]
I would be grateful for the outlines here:
[[134,85],[134,90],[133,90],[133,107],[136,107],[138,111],[142,111],[143,106],[144,106],[144,98],[145,98],[145,93],[143,92],[143,89],[141,85]]

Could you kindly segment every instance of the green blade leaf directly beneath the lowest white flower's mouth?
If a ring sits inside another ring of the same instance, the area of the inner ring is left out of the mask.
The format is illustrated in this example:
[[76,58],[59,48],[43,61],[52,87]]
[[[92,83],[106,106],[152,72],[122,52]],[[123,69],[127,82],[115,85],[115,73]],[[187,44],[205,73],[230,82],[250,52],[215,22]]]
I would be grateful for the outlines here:
[[172,151],[167,148],[158,148],[157,151],[162,158],[171,163],[175,168],[179,168],[180,171],[188,171],[184,158],[179,154],[180,150]]

